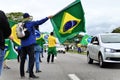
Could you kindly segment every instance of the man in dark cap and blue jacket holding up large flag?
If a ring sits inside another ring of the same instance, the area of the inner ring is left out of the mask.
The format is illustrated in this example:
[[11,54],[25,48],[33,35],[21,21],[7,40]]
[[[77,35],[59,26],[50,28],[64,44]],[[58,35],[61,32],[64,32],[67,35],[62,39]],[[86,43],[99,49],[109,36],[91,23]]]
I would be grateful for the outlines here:
[[23,19],[24,19],[23,22],[25,23],[25,27],[30,32],[30,36],[24,40],[21,39],[21,50],[22,50],[22,54],[20,55],[20,57],[21,57],[21,62],[20,62],[21,78],[25,78],[24,65],[25,65],[25,59],[26,59],[27,54],[29,56],[29,78],[39,78],[33,72],[34,61],[35,61],[34,45],[36,44],[36,36],[35,36],[34,26],[39,26],[39,25],[45,23],[51,17],[52,16],[46,17],[41,20],[32,21],[31,16],[28,13],[23,14]]

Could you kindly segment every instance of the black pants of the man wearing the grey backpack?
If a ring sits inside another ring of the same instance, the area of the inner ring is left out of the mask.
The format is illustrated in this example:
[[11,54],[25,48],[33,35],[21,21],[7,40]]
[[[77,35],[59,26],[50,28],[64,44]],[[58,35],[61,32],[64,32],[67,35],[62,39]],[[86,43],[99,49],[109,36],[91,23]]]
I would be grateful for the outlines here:
[[29,77],[33,76],[33,67],[34,67],[34,45],[22,47],[22,53],[20,54],[21,62],[20,62],[20,76],[25,76],[24,66],[26,56],[29,56]]

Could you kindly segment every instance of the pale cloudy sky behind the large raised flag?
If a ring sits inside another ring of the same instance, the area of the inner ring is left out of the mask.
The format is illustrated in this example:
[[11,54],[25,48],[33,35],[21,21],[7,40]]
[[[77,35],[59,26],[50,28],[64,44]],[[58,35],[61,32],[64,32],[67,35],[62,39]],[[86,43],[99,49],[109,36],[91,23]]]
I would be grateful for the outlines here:
[[[0,10],[5,13],[29,13],[34,20],[54,15],[74,0],[1,0]],[[81,0],[85,13],[86,33],[95,35],[111,32],[120,27],[120,0]],[[40,31],[53,31],[50,20],[40,25]]]

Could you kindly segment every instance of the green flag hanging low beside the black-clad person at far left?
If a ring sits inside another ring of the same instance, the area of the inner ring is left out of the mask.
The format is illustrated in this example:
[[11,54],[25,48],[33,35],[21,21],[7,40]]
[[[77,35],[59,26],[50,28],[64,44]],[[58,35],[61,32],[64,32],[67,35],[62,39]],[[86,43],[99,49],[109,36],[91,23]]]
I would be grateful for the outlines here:
[[14,44],[10,39],[5,40],[5,57],[4,59],[17,59],[17,52],[14,49]]

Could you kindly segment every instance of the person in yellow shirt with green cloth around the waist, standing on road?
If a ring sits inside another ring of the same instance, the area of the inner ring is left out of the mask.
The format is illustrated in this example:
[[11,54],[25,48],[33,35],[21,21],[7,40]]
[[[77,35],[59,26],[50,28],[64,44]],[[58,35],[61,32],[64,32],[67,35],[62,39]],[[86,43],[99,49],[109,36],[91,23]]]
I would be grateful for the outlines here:
[[56,38],[54,37],[54,33],[51,32],[50,36],[48,37],[48,56],[47,56],[47,63],[50,61],[50,56],[52,55],[51,62],[54,62],[54,55],[56,55]]

